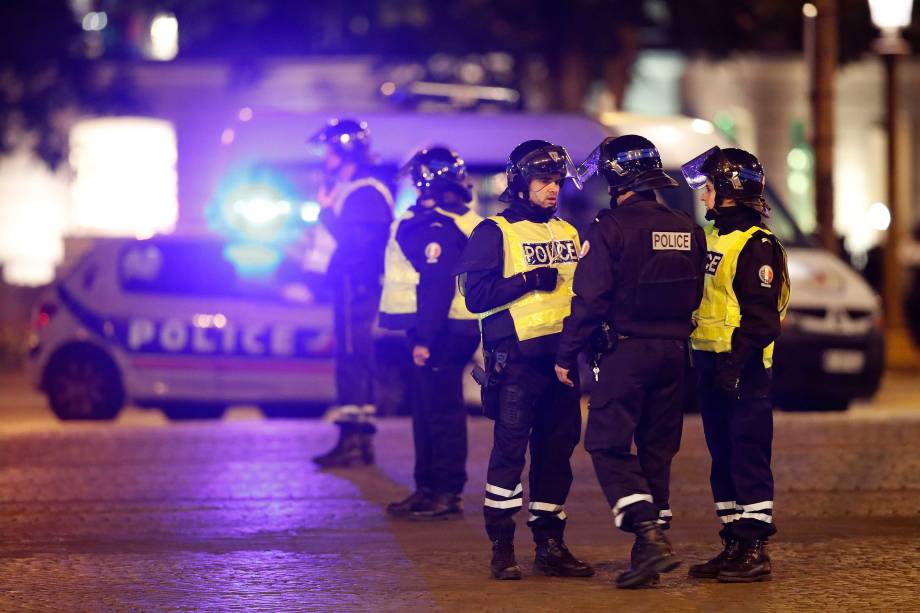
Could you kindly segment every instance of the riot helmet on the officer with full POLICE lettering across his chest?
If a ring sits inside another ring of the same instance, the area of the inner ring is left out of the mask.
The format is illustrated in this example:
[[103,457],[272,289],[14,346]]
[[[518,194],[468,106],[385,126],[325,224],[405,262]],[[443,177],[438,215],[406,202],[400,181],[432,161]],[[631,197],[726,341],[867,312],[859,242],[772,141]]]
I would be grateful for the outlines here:
[[572,179],[581,189],[581,182],[575,174],[575,164],[568,151],[561,145],[545,140],[528,140],[514,148],[505,166],[508,187],[499,196],[502,202],[515,198],[527,200],[532,179],[563,181]]

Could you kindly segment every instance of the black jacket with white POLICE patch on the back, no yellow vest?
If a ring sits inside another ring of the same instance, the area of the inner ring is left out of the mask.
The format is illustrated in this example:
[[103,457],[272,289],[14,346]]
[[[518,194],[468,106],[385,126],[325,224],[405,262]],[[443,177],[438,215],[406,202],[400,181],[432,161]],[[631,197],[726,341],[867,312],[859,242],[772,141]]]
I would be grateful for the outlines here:
[[573,368],[605,321],[620,336],[686,339],[705,265],[706,235],[689,215],[648,194],[601,211],[575,270],[557,363]]

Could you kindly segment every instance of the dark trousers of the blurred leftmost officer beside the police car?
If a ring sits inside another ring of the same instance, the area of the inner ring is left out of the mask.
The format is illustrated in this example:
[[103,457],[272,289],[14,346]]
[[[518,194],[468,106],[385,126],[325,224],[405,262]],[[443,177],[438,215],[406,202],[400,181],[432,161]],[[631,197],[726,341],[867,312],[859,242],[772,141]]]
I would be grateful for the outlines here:
[[[380,285],[350,277],[333,284],[335,319],[335,387],[338,404],[348,406],[339,421],[373,419],[374,320],[380,306]],[[358,407],[356,411],[352,407]]]

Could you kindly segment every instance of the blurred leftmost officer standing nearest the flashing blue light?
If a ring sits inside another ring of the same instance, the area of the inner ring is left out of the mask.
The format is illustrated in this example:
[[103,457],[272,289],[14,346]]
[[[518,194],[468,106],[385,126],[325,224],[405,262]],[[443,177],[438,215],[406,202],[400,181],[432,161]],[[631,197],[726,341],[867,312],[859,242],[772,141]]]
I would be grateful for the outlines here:
[[333,290],[339,427],[335,447],[313,461],[322,467],[373,464],[372,327],[380,304],[393,196],[372,175],[370,134],[364,122],[332,120],[309,142],[324,151],[325,180],[318,197],[324,234],[314,254],[326,256],[319,269]]

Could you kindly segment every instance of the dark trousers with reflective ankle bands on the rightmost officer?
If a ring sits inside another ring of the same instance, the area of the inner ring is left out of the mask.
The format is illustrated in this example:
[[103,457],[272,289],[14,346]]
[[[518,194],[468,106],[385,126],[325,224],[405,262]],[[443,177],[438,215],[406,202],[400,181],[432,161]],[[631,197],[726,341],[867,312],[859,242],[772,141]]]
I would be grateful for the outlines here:
[[712,457],[709,482],[722,536],[764,538],[773,525],[772,371],[759,356],[741,372],[740,399],[719,392],[715,383],[716,354],[695,351],[700,413]]

